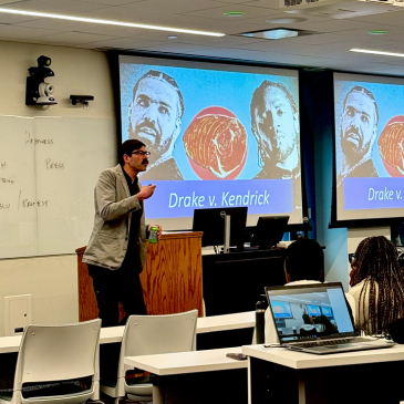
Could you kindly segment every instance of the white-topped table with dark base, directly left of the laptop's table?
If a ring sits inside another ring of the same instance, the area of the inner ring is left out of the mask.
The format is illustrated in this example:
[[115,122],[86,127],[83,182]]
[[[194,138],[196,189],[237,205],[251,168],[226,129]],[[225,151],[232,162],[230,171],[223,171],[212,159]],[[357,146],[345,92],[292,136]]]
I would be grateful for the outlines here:
[[153,404],[246,404],[247,361],[227,358],[241,346],[127,356],[125,370],[151,372]]

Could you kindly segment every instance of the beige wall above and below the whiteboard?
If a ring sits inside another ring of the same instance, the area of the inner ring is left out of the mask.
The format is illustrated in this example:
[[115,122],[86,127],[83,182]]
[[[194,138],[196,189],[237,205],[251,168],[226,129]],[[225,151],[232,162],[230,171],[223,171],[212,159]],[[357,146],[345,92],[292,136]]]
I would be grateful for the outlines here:
[[[0,114],[115,118],[112,77],[104,53],[0,42]],[[28,68],[35,66],[37,58],[42,54],[52,59],[55,76],[45,81],[54,84],[59,103],[48,111],[25,106]],[[95,100],[90,110],[84,110],[81,105],[72,106],[71,94],[90,94]],[[116,134],[111,136],[115,138]],[[33,323],[77,321],[75,255],[0,260],[0,335],[4,335],[4,297],[19,294],[32,294]]]

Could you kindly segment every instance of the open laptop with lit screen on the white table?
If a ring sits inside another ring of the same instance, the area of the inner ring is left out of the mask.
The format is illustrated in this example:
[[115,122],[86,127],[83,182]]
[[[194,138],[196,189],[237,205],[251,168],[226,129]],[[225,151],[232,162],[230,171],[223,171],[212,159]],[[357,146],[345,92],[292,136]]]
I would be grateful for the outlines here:
[[356,336],[342,284],[266,288],[280,345],[327,354],[390,348],[393,342]]

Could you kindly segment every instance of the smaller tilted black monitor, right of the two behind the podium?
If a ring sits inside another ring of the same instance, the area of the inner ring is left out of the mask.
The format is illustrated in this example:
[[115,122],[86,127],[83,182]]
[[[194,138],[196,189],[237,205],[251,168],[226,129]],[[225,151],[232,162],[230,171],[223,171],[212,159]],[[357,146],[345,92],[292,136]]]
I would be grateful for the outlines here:
[[266,249],[276,246],[282,239],[288,221],[289,216],[259,217],[251,247],[259,246]]

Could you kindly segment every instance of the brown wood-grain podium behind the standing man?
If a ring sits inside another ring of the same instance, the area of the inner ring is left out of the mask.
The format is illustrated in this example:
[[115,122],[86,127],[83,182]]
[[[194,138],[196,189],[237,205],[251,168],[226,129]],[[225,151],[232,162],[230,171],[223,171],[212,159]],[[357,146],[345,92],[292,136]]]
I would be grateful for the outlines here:
[[[170,314],[197,309],[203,313],[201,231],[164,234],[146,244],[146,263],[141,273],[148,314]],[[77,248],[79,321],[96,319],[99,309],[92,278],[82,262],[85,247]],[[120,320],[124,317],[121,308]]]

